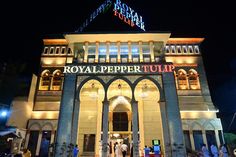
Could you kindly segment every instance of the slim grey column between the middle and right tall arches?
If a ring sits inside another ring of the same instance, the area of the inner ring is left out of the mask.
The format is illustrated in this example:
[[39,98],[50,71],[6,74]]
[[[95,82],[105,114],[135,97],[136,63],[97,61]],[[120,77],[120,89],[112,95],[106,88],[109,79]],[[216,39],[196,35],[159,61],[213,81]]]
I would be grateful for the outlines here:
[[138,138],[138,102],[132,101],[132,132],[133,132],[133,156],[139,157],[139,138]]

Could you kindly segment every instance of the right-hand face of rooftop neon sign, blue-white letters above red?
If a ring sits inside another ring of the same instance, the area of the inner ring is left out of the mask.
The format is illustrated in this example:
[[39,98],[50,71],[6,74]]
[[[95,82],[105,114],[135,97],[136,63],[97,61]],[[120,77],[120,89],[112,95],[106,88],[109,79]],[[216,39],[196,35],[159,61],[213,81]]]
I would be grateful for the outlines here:
[[138,15],[132,8],[127,4],[122,3],[121,0],[116,0],[114,3],[114,16],[119,17],[125,23],[134,27],[135,25],[145,31],[145,25],[143,22],[143,17]]

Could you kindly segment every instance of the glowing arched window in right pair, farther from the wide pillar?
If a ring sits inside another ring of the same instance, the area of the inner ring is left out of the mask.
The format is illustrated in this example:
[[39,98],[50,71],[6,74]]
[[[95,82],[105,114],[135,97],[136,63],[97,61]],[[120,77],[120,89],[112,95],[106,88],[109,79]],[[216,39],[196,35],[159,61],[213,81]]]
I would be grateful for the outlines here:
[[200,89],[198,73],[195,70],[189,70],[188,80],[190,89]]

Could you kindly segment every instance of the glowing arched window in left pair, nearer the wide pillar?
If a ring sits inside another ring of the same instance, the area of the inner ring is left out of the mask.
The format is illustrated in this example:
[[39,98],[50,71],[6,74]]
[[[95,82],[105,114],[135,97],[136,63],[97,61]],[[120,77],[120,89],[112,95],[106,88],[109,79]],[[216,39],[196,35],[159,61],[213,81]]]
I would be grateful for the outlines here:
[[63,76],[60,70],[53,72],[51,90],[61,90],[63,83]]

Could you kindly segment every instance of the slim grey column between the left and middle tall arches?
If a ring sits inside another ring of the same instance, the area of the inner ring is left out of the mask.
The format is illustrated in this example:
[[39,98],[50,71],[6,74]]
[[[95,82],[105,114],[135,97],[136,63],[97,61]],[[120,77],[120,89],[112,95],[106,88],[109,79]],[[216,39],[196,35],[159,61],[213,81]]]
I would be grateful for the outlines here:
[[107,144],[108,144],[108,114],[109,114],[109,101],[103,101],[103,117],[102,117],[102,157],[107,157]]

